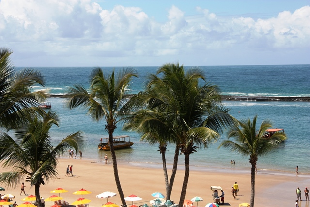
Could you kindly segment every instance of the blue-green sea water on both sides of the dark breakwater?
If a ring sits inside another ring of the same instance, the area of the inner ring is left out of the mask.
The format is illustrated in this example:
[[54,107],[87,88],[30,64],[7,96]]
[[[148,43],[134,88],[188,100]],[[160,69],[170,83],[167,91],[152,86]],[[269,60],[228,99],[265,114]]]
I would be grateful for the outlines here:
[[[187,68],[187,67],[186,67]],[[310,96],[310,65],[263,65],[263,66],[201,66],[207,81],[217,84],[223,95],[236,96]],[[17,68],[21,69],[21,68]],[[46,87],[51,94],[65,94],[67,87],[82,84],[89,87],[89,75],[92,67],[40,67],[46,79]],[[103,67],[111,71],[112,67]],[[116,71],[120,68],[116,68]],[[155,73],[157,67],[137,67],[139,79],[134,79],[131,85],[132,93],[143,90],[146,77]],[[35,90],[41,90],[36,87]],[[81,109],[69,110],[65,107],[64,98],[49,98],[52,110],[60,115],[60,127],[51,129],[54,143],[78,130],[84,132],[86,147],[83,157],[103,161],[107,152],[98,151],[100,137],[108,134],[104,130],[104,121],[93,122],[86,111]],[[274,149],[269,155],[258,160],[259,171],[274,170],[278,172],[294,172],[296,165],[301,173],[310,172],[310,102],[247,102],[223,101],[230,113],[237,119],[253,118],[258,115],[258,123],[270,119],[273,126],[284,128],[288,140]],[[161,167],[161,155],[157,145],[149,145],[140,141],[140,135],[134,132],[122,131],[119,125],[115,135],[130,135],[135,144],[128,149],[116,151],[118,162],[132,165],[153,165]],[[247,157],[218,149],[226,134],[208,149],[199,149],[190,156],[192,168],[201,170],[233,169],[238,171],[250,170]],[[167,162],[171,165],[174,146],[168,146]],[[107,153],[109,156],[109,152]],[[230,160],[236,161],[231,165]],[[179,158],[180,168],[183,156]]]

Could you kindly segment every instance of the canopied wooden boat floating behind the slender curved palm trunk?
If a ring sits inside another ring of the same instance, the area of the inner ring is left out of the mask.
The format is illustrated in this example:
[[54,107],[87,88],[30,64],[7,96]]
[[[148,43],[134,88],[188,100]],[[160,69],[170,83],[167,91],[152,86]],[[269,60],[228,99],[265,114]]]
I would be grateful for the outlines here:
[[[99,143],[98,149],[99,150],[105,150],[109,151],[110,150],[110,143],[109,143],[109,138],[103,137],[101,138],[103,141]],[[130,142],[130,137],[127,135],[121,135],[121,136],[115,136],[113,137],[113,146],[114,149],[124,149],[131,147],[134,143]]]

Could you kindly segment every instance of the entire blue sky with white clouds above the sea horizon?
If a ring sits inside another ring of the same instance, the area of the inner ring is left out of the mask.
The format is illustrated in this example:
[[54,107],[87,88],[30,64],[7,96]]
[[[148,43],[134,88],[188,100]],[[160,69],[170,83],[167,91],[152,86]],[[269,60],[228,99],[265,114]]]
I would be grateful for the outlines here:
[[0,0],[16,66],[310,64],[310,0]]

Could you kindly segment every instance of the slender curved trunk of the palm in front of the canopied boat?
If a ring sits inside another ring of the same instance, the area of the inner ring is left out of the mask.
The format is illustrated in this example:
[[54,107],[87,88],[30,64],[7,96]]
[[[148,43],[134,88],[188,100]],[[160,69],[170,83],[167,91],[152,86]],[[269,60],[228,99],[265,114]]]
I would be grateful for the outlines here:
[[117,191],[118,191],[118,194],[120,195],[123,206],[126,206],[124,193],[122,190],[120,178],[118,176],[117,161],[116,161],[116,155],[115,155],[115,150],[114,150],[114,145],[113,145],[113,132],[109,132],[109,143],[110,143],[111,157],[112,157],[112,162],[113,162],[114,179],[115,179]]

